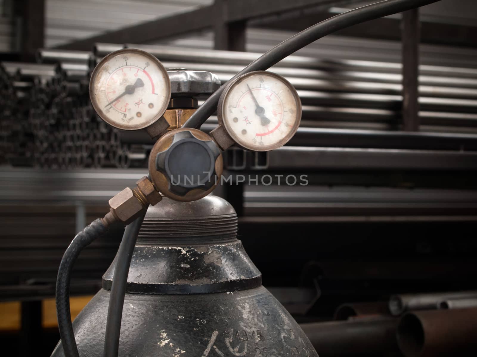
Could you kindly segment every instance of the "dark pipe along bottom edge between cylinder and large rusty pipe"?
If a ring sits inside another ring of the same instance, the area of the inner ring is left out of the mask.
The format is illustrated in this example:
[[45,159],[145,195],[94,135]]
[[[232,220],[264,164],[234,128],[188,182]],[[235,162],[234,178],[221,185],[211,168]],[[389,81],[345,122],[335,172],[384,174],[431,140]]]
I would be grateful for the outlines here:
[[392,317],[307,323],[300,327],[320,356],[369,356],[398,349],[397,319]]

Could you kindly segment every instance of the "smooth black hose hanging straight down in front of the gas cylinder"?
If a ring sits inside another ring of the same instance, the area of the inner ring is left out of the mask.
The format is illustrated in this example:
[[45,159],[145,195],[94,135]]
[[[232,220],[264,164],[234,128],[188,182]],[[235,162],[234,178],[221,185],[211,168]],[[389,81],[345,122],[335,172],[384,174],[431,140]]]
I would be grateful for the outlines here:
[[123,240],[119,245],[116,265],[114,267],[113,284],[109,295],[108,318],[106,320],[106,336],[104,338],[104,357],[117,357],[119,351],[119,334],[123,317],[124,294],[126,292],[129,266],[133,257],[137,235],[143,223],[146,210],[124,230]]

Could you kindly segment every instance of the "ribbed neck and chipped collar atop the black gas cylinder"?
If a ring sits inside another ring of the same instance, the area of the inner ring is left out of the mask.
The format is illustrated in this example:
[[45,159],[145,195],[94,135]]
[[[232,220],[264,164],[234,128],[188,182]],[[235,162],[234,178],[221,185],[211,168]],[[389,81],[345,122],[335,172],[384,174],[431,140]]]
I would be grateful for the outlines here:
[[[116,259],[103,276],[111,289]],[[237,239],[237,214],[217,196],[194,202],[164,198],[147,210],[126,292],[198,294],[261,286],[261,274]]]

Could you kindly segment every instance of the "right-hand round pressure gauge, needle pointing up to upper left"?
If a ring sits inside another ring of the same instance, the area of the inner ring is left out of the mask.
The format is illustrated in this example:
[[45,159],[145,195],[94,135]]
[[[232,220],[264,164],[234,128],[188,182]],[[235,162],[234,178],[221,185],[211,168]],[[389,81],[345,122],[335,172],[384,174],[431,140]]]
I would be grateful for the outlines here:
[[218,116],[241,147],[268,151],[286,144],[297,131],[301,101],[283,77],[267,71],[250,72],[224,91]]

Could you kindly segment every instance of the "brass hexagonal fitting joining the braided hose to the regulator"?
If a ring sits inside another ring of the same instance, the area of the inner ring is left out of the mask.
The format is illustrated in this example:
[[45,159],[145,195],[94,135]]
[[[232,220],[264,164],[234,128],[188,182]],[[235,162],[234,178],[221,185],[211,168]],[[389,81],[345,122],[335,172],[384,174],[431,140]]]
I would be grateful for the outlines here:
[[[134,189],[124,188],[109,200],[109,209],[114,220],[121,221],[125,225],[139,217],[149,204],[154,206],[162,200],[162,196],[147,177],[144,176],[138,180],[136,185],[137,187]],[[108,225],[111,223],[110,213],[104,216],[103,223],[108,223]]]

